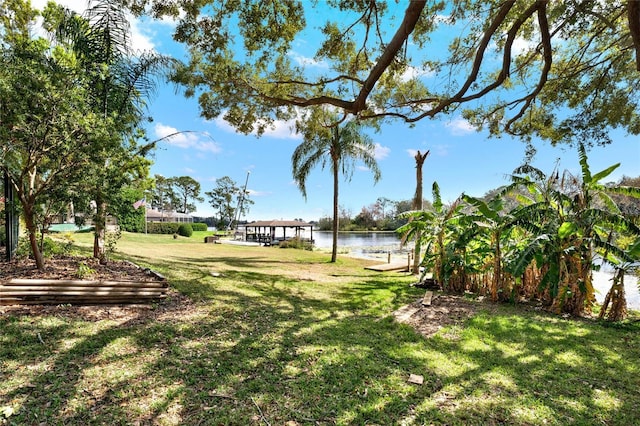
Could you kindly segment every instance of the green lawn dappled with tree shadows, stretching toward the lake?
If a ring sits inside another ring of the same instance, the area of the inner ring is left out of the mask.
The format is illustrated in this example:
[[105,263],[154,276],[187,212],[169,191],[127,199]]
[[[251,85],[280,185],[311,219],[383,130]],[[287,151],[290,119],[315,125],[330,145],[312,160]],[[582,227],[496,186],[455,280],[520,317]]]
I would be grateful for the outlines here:
[[187,309],[0,317],[0,423],[640,424],[638,323],[490,305],[425,339],[390,316],[422,295],[411,277],[202,241],[119,243]]

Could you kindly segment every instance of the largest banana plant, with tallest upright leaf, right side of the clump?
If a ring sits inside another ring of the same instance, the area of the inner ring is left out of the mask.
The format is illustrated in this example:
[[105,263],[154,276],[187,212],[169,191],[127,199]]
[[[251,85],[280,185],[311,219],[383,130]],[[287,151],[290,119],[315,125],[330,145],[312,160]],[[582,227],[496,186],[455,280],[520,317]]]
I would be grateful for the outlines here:
[[[530,232],[531,239],[508,270],[521,274],[535,261],[544,269],[540,288],[548,290],[556,310],[582,315],[595,303],[592,284],[595,244],[619,224],[636,228],[617,208],[609,194],[640,195],[638,188],[610,187],[601,183],[619,164],[591,174],[584,146],[578,146],[581,176],[540,171],[514,176],[532,198],[514,212],[516,224]],[[524,169],[523,169],[524,170]]]

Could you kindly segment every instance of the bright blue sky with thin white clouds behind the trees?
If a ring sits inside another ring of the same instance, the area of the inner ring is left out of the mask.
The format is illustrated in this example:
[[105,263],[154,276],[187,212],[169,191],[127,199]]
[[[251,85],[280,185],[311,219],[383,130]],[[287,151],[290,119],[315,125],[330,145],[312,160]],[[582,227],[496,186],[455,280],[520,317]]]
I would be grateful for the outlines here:
[[[45,1],[32,1],[42,7]],[[60,0],[82,12],[85,3],[79,0]],[[181,57],[184,48],[171,39],[171,22],[132,20],[132,42],[140,50],[155,50],[161,54]],[[310,61],[300,51],[292,57]],[[321,66],[321,64],[318,64]],[[428,76],[425,76],[428,78]],[[160,138],[175,131],[189,130],[158,145],[154,155],[152,174],[165,177],[188,175],[200,182],[204,196],[215,186],[215,180],[229,176],[243,185],[249,174],[247,189],[254,205],[244,219],[317,220],[331,214],[332,178],[328,169],[314,170],[307,180],[305,200],[291,176],[291,154],[301,142],[289,130],[288,123],[277,123],[273,131],[260,138],[236,133],[221,118],[206,121],[200,117],[197,99],[186,99],[179,88],[166,85],[158,88],[151,100],[150,115],[154,122],[148,126],[150,138]],[[377,144],[376,156],[382,171],[381,180],[374,185],[370,171],[357,168],[351,181],[340,182],[340,205],[357,215],[363,206],[377,198],[407,200],[415,191],[416,150],[430,150],[425,161],[425,198],[431,199],[431,184],[437,181],[445,201],[453,201],[460,193],[481,196],[490,189],[507,183],[506,175],[521,164],[525,153],[523,142],[503,137],[489,139],[485,133],[475,132],[460,116],[441,116],[423,120],[415,127],[396,122],[384,125],[380,132],[370,133]],[[612,133],[613,143],[595,147],[588,152],[592,172],[615,163],[621,166],[610,180],[623,175],[640,175],[640,140]],[[535,142],[538,153],[533,165],[551,172],[559,161],[560,169],[579,174],[577,152],[570,147],[551,147]],[[205,197],[206,198],[206,197]],[[198,216],[211,216],[208,201],[197,205]]]

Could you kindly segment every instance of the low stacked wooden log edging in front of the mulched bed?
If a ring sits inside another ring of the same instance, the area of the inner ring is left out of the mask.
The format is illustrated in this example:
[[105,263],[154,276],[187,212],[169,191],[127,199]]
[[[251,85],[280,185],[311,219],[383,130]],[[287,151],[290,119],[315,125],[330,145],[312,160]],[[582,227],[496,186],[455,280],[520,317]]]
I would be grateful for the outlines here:
[[167,296],[169,285],[158,281],[89,281],[12,279],[0,283],[0,305],[149,303]]

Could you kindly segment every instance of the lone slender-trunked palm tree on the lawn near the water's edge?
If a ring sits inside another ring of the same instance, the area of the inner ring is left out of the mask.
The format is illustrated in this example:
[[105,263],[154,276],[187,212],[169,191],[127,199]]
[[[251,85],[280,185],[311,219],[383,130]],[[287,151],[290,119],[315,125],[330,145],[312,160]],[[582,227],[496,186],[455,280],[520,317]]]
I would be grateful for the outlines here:
[[356,161],[362,161],[373,172],[374,182],[380,180],[380,169],[376,161],[375,146],[371,138],[360,133],[360,126],[351,121],[342,128],[335,126],[309,126],[303,131],[304,141],[291,156],[293,178],[307,198],[306,181],[311,170],[318,164],[324,169],[329,164],[333,174],[333,244],[331,262],[338,253],[338,183],[340,173],[351,179]]

